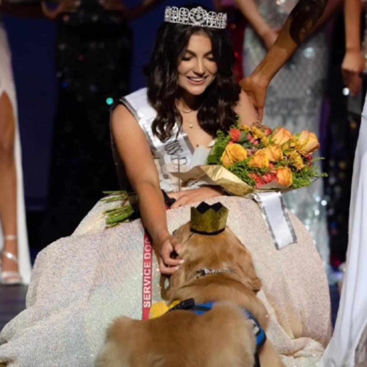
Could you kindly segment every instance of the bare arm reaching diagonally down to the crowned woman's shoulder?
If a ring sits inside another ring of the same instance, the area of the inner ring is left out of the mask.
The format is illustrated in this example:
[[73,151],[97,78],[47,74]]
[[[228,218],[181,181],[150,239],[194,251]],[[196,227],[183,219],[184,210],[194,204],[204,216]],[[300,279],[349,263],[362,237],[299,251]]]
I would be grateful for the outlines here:
[[312,33],[327,2],[328,0],[299,0],[264,60],[250,77],[241,80],[242,89],[258,110],[259,121],[262,120],[264,113],[266,89],[270,81],[305,38]]

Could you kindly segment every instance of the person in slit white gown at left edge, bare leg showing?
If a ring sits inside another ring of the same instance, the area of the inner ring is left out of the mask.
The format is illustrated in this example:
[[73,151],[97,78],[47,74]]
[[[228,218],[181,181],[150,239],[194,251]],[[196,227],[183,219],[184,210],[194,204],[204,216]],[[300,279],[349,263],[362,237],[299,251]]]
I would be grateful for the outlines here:
[[0,187],[0,284],[28,284],[31,266],[23,196],[17,97],[10,47],[1,19]]

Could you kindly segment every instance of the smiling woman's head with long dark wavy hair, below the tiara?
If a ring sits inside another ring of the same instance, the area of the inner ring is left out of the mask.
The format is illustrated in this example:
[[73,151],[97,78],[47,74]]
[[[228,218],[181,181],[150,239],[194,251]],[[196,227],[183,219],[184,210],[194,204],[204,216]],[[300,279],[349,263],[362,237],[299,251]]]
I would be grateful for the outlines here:
[[175,124],[185,128],[187,120],[211,137],[219,128],[228,130],[237,119],[233,109],[241,90],[234,64],[224,29],[164,23],[145,68],[148,100],[157,112],[153,133],[167,140]]

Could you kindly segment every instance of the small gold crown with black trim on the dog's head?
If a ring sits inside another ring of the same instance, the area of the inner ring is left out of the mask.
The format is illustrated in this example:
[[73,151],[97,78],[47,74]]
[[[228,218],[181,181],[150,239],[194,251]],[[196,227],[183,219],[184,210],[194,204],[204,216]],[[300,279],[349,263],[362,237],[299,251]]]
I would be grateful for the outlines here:
[[195,233],[214,235],[225,230],[228,209],[221,203],[209,205],[201,202],[191,208],[190,230]]

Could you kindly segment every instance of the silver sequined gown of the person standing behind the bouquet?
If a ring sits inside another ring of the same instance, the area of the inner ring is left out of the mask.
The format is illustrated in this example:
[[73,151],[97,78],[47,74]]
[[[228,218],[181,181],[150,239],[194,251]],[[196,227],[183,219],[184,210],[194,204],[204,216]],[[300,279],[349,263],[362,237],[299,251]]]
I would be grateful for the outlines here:
[[[297,0],[257,0],[266,23],[279,30]],[[244,39],[244,73],[250,75],[265,57],[266,48],[248,26]],[[276,74],[266,93],[263,123],[284,126],[292,133],[309,130],[319,136],[321,104],[327,74],[326,35],[320,31],[304,42],[290,61]],[[329,263],[326,200],[323,181],[284,195],[287,207],[310,231],[324,265]]]

